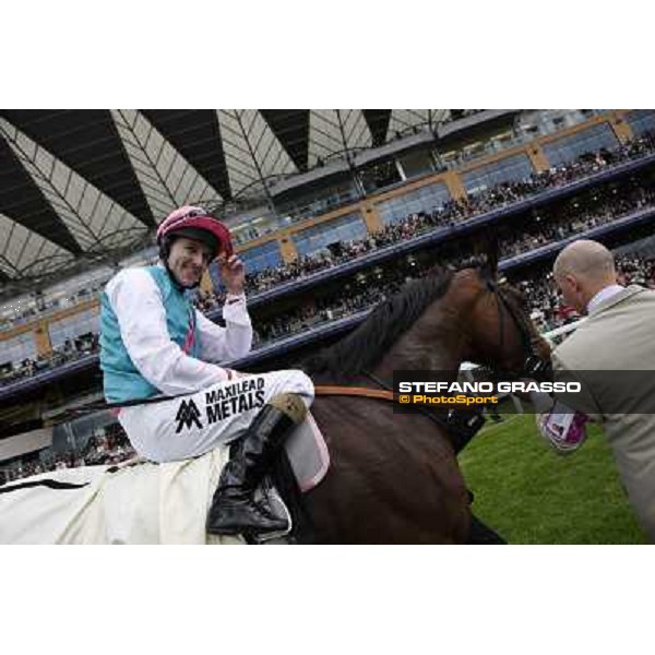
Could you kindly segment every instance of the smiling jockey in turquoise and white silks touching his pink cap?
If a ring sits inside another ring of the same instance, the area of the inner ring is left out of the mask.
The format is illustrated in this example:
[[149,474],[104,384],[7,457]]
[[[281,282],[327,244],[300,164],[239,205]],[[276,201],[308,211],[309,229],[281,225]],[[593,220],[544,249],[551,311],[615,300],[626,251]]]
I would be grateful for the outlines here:
[[[123,269],[102,294],[100,368],[105,397],[126,403],[118,420],[136,452],[183,460],[234,441],[207,516],[213,534],[287,529],[254,491],[313,400],[299,370],[248,376],[221,366],[251,347],[243,264],[227,227],[202,207],[183,206],[157,230],[160,263]],[[198,287],[217,258],[227,296],[225,327],[194,309]],[[168,400],[147,403],[157,395]],[[145,404],[134,404],[144,401]]]

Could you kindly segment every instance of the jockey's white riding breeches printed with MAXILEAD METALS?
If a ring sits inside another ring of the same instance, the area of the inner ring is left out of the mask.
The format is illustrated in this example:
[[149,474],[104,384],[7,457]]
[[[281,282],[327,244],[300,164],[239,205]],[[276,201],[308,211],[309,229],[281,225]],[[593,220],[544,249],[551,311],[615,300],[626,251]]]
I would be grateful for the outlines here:
[[123,407],[118,420],[140,455],[174,462],[202,455],[239,437],[281,393],[298,394],[309,408],[313,383],[300,370],[245,374],[170,401]]

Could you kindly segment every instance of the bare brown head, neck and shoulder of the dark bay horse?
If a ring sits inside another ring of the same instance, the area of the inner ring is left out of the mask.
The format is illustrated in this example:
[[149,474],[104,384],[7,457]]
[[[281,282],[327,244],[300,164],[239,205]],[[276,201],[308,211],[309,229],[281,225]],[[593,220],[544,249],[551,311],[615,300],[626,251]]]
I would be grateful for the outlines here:
[[[451,371],[463,361],[523,371],[550,348],[516,289],[481,270],[434,272],[378,306],[354,333],[306,361],[317,384],[391,385],[393,371]],[[366,397],[317,397],[332,466],[306,497],[320,544],[457,544],[469,496],[446,430]]]

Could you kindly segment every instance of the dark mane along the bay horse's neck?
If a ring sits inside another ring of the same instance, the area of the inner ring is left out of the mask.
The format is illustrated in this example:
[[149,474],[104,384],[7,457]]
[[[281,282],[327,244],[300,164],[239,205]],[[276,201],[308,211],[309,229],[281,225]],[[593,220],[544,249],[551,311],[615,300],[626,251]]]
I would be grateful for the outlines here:
[[309,376],[347,380],[370,370],[396,340],[450,287],[453,271],[432,269],[380,302],[352,334],[300,362]]

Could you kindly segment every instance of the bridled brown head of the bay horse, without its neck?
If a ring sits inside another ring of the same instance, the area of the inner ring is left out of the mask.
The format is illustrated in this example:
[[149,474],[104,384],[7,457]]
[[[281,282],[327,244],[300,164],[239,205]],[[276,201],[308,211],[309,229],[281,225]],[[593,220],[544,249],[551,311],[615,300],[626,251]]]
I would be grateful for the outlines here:
[[488,270],[466,273],[477,287],[468,323],[471,360],[505,374],[529,376],[546,368],[550,345],[529,319],[523,294]]

